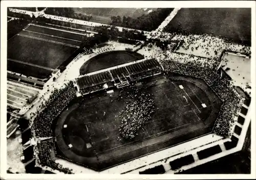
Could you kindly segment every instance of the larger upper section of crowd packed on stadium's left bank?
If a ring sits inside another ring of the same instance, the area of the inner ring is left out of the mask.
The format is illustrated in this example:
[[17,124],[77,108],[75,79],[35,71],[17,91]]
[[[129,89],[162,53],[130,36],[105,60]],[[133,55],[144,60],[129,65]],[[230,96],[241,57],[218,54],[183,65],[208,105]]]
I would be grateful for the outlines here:
[[63,89],[55,89],[50,95],[49,100],[42,104],[45,108],[36,113],[33,121],[32,130],[37,137],[52,137],[52,121],[68,106],[75,97],[73,83],[69,82]]

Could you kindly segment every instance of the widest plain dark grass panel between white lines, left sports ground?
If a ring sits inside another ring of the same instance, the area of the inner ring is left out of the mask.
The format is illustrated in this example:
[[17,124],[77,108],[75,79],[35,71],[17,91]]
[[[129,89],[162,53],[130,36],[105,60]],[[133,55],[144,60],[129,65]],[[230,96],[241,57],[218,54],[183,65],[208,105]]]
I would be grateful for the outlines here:
[[[7,57],[55,69],[76,49],[62,44],[15,36],[7,42]],[[15,72],[15,69],[10,70]]]

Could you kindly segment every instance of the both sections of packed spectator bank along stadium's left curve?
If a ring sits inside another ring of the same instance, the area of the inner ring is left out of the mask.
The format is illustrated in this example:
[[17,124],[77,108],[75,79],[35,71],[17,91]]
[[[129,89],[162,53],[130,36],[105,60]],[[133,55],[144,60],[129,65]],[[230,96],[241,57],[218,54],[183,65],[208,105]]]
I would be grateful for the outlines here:
[[[32,122],[31,129],[35,137],[53,137],[52,122],[53,120],[69,105],[71,100],[75,98],[75,90],[73,82],[66,84],[66,87],[58,90],[55,89],[49,97],[49,100],[42,105],[44,108],[41,112],[36,113],[36,117]],[[49,166],[65,173],[71,173],[67,168],[55,163],[51,157],[51,142],[37,143],[34,147],[36,160],[41,166]]]

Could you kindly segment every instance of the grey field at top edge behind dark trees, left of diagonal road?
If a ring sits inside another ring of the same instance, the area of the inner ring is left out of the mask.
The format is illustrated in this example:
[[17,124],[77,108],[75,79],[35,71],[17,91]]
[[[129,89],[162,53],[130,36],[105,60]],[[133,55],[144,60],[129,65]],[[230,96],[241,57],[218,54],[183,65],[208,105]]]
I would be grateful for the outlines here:
[[150,10],[156,8],[73,8],[75,13],[92,15],[90,21],[110,24],[112,22],[111,16],[123,16],[137,18],[143,14],[148,14]]

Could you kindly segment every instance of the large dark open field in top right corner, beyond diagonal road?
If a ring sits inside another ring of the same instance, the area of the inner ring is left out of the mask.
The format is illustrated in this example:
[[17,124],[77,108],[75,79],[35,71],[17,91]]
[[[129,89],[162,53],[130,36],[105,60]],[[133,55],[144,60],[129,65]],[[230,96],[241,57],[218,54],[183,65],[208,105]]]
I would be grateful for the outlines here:
[[165,30],[176,29],[250,44],[251,11],[249,8],[182,8]]

